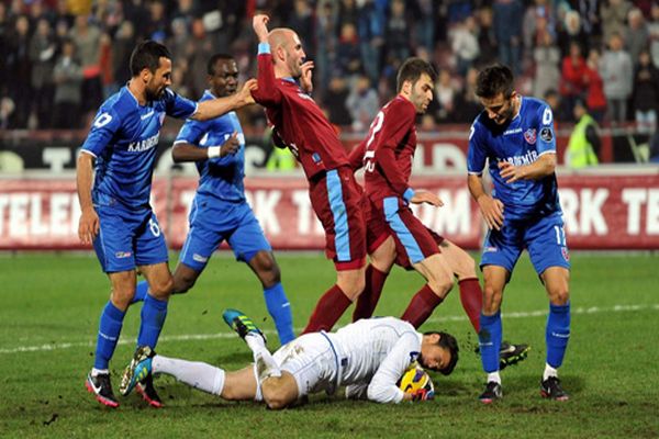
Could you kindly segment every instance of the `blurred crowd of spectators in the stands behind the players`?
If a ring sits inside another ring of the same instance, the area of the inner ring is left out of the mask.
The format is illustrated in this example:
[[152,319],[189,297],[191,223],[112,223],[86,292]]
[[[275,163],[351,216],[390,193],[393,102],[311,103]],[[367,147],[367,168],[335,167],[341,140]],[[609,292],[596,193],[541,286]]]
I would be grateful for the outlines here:
[[[172,89],[201,97],[213,53],[255,71],[257,11],[298,32],[315,63],[314,98],[336,125],[364,130],[394,95],[402,60],[416,55],[439,71],[422,130],[471,122],[477,68],[496,60],[558,121],[573,121],[583,102],[600,123],[656,126],[652,0],[2,0],[0,127],[85,127],[129,80],[127,58],[145,38],[170,48]],[[265,123],[252,112],[246,125]]]

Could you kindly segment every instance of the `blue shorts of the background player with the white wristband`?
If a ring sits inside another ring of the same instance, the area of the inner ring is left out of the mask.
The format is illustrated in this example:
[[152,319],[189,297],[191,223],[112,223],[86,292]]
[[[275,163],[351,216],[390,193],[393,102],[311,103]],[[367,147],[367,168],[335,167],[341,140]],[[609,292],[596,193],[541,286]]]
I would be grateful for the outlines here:
[[249,204],[196,196],[190,211],[190,232],[180,261],[201,272],[225,239],[236,259],[245,262],[249,262],[258,251],[272,250]]

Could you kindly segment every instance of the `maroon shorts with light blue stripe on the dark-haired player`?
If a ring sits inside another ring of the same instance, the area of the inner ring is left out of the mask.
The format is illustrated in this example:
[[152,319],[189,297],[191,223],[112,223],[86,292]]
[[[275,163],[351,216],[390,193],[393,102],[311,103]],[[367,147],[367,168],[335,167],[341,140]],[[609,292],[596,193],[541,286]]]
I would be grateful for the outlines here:
[[395,243],[395,263],[405,270],[413,270],[412,263],[440,252],[444,237],[423,225],[401,199],[392,196],[365,204],[369,254],[389,236]]

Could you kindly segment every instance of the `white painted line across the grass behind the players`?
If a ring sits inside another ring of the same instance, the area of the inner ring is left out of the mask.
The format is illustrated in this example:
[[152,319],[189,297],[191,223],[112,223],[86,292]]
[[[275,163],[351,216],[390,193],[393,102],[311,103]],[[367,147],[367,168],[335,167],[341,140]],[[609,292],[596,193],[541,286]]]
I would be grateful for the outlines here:
[[[571,309],[572,315],[579,314],[601,314],[601,313],[619,313],[619,312],[629,312],[629,311],[645,311],[652,309],[659,311],[659,304],[648,304],[648,305],[615,305],[615,306],[589,306],[589,307],[576,307]],[[517,313],[502,313],[503,318],[526,318],[526,317],[544,317],[547,315],[547,309],[541,311],[530,311],[530,312],[517,312]],[[428,318],[428,323],[440,323],[440,322],[461,322],[466,320],[467,317],[465,315],[460,316],[437,316],[434,318]],[[298,331],[302,330],[302,328],[297,328]],[[275,330],[264,330],[264,333],[268,335],[275,335]],[[183,334],[179,336],[163,336],[159,339],[159,342],[168,342],[168,341],[188,341],[188,340],[211,340],[217,338],[234,338],[236,335],[234,333],[217,333],[217,334]],[[133,339],[120,339],[119,345],[131,345],[135,341]],[[96,344],[93,341],[78,341],[78,342],[64,342],[64,344],[48,344],[41,346],[20,346],[18,348],[9,348],[9,349],[0,349],[0,353],[19,353],[19,352],[43,352],[48,350],[60,350],[60,349],[70,349],[70,348],[80,348],[80,347],[94,347]]]

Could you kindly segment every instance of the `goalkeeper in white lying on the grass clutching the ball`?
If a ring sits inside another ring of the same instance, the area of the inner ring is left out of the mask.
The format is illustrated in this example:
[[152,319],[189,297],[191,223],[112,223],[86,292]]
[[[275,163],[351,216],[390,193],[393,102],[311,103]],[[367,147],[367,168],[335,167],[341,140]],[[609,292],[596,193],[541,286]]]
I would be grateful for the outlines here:
[[[129,394],[152,373],[166,373],[224,399],[264,401],[273,409],[293,405],[312,393],[331,395],[339,385],[346,386],[351,398],[400,403],[433,396],[431,380],[425,386],[405,384],[407,392],[401,390],[399,380],[410,368],[420,364],[448,375],[458,361],[458,344],[451,335],[420,334],[393,317],[361,319],[336,333],[305,334],[275,353],[268,351],[263,333],[247,316],[227,309],[223,317],[254,352],[254,364],[228,372],[145,348],[126,368],[122,394]],[[418,373],[420,378],[423,374]]]

